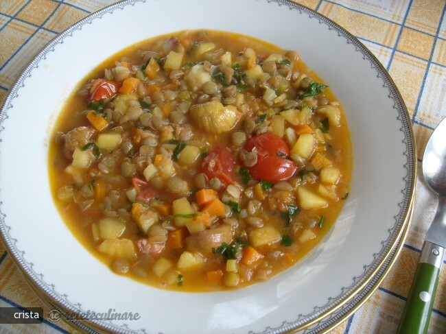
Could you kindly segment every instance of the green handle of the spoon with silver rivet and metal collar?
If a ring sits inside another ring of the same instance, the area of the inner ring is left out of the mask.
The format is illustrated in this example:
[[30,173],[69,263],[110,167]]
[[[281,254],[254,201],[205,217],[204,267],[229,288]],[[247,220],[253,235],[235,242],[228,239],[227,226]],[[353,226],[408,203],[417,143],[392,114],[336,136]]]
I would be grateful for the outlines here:
[[398,334],[427,333],[445,248],[425,241]]

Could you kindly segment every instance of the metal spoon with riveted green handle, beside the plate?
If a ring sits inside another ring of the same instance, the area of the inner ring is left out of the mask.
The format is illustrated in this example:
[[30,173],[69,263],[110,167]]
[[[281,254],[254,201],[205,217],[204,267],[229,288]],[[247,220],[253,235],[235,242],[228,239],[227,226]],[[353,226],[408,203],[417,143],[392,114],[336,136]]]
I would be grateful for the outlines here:
[[438,208],[416,267],[414,281],[397,333],[427,333],[432,305],[446,248],[446,119],[427,142],[423,155],[423,176],[438,194]]

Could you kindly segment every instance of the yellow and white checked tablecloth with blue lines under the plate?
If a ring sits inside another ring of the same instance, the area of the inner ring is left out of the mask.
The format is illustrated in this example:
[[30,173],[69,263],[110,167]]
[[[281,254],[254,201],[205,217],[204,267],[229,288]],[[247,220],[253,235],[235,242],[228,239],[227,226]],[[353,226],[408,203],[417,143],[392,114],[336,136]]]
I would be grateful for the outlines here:
[[[114,1],[1,0],[0,102],[16,77],[52,38],[84,16]],[[427,140],[446,117],[446,3],[444,0],[296,1],[335,21],[375,54],[395,81],[410,113],[419,173]],[[8,41],[8,43],[5,43]],[[392,270],[375,293],[330,333],[395,333],[421,246],[436,210],[436,198],[421,175],[414,215]],[[444,263],[445,261],[443,261]],[[25,283],[0,243],[0,307],[47,307]],[[63,322],[1,325],[0,333],[73,333]],[[441,272],[428,333],[446,333],[446,266]]]

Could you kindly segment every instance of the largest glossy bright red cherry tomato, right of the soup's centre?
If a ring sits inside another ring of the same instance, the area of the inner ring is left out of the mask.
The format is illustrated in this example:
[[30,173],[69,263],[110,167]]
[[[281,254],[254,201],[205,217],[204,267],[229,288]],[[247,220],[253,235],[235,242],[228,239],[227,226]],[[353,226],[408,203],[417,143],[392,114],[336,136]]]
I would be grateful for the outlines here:
[[257,151],[257,163],[249,167],[250,174],[256,180],[279,182],[291,178],[296,165],[285,158],[290,155],[290,148],[281,137],[263,133],[246,141],[245,150]]

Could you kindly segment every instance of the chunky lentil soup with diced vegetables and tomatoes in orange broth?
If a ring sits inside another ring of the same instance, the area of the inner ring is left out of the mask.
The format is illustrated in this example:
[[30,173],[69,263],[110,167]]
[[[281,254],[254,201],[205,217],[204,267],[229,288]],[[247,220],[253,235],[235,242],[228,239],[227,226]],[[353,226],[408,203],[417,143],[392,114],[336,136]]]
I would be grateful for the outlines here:
[[184,31],[115,54],[52,139],[67,226],[154,287],[267,281],[314,248],[349,194],[340,102],[296,51],[239,34]]

